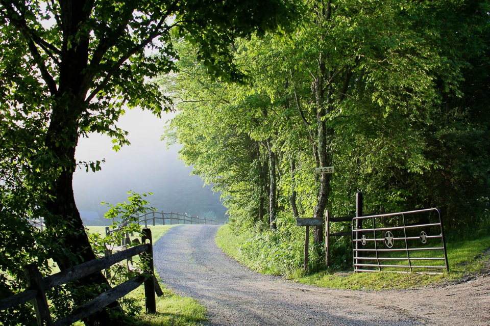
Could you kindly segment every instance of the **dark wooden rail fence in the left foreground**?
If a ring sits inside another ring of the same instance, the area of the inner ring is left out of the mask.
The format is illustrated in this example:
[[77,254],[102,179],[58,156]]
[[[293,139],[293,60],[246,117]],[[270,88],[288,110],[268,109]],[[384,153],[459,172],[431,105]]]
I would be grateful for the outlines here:
[[[149,241],[149,243],[146,243],[146,241]],[[39,269],[35,264],[29,264],[26,266],[28,288],[18,294],[0,300],[0,310],[5,310],[28,301],[32,301],[34,304],[38,325],[70,325],[75,321],[86,318],[101,310],[144,283],[146,312],[155,313],[155,283],[158,285],[158,282],[155,279],[153,270],[153,243],[150,229],[145,228],[142,230],[141,243],[142,244],[139,246],[132,247],[100,259],[84,262],[45,278],[41,278]],[[135,255],[141,255],[142,253],[146,253],[146,255],[148,255],[148,270],[145,270],[143,273],[140,273],[132,279],[103,292],[92,301],[78,307],[70,315],[62,317],[55,322],[52,321],[50,310],[47,305],[45,291],[55,286],[74,282],[102,269],[107,270],[115,263],[129,259]],[[161,293],[157,292],[157,294],[160,296]]]

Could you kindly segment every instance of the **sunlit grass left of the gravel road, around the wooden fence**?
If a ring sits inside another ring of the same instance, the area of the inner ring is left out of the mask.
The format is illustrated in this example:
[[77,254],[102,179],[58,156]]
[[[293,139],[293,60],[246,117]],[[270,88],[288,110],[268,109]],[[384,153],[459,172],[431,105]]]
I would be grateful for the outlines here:
[[[155,243],[165,232],[175,225],[158,225],[150,226],[152,230],[153,243]],[[91,233],[105,234],[104,226],[87,227]],[[158,275],[157,278],[159,279]],[[206,308],[204,308],[199,302],[193,300],[190,297],[182,297],[171,292],[165,288],[162,284],[165,280],[160,280],[164,295],[157,297],[157,313],[146,314],[141,313],[137,320],[134,320],[132,324],[138,326],[191,326],[198,325],[202,321],[206,320]],[[144,311],[144,287],[141,285],[136,290],[128,294],[128,297],[135,298],[138,305],[142,307]],[[78,322],[76,325],[83,325]]]

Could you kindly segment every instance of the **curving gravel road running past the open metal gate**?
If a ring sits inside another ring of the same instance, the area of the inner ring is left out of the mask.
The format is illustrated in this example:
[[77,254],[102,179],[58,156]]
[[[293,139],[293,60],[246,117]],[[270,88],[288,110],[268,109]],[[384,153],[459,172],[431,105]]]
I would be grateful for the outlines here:
[[332,290],[264,276],[226,256],[219,226],[181,225],[154,244],[155,268],[208,309],[207,325],[490,325],[490,276],[406,291]]

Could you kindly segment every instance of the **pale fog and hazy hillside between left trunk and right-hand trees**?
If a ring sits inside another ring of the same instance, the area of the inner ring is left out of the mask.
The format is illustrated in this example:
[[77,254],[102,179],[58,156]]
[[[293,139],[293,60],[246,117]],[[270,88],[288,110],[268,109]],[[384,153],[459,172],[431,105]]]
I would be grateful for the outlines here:
[[214,194],[209,185],[203,187],[199,176],[189,175],[192,168],[178,159],[179,145],[167,149],[165,142],[160,141],[166,121],[173,116],[170,113],[158,119],[147,111],[127,110],[118,126],[129,131],[131,145],[118,152],[112,150],[113,144],[106,135],[81,138],[77,161],[105,158],[106,162],[102,171],[95,173],[77,169],[73,185],[78,209],[97,211],[102,217],[107,211],[102,201],[113,204],[125,201],[127,192],[133,190],[152,192],[153,196],[147,198],[159,211],[186,211],[223,220],[226,209],[220,203],[219,194]]

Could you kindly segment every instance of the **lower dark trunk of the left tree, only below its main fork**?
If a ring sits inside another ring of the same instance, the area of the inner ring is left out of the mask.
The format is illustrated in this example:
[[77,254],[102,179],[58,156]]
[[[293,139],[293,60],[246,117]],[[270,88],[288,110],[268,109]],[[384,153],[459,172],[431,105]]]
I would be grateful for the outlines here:
[[[58,103],[63,101],[59,101]],[[47,189],[47,202],[45,216],[46,227],[53,234],[54,242],[59,243],[61,248],[53,252],[53,259],[60,269],[66,269],[85,261],[96,259],[88,241],[85,228],[82,224],[80,213],[75,204],[72,180],[76,168],[75,148],[78,143],[78,113],[82,101],[72,99],[71,102],[59,104],[53,108],[50,127],[47,132],[45,146],[53,157],[52,170],[57,170],[54,180]],[[74,286],[95,286],[101,292],[109,288],[109,283],[102,274],[97,272],[80,279]],[[77,305],[91,300],[96,294],[80,298]],[[118,308],[117,303],[109,306],[111,309]],[[111,320],[107,310],[102,310],[89,318],[87,325],[104,324],[116,325],[116,320]]]

